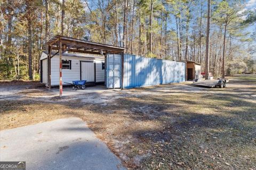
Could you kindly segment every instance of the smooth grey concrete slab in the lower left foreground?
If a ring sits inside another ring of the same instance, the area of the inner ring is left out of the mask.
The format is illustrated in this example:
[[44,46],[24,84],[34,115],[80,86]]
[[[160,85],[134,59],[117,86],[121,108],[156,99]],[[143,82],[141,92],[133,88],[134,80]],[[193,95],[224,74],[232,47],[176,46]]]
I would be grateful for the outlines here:
[[126,169],[80,118],[0,131],[0,160],[26,169]]

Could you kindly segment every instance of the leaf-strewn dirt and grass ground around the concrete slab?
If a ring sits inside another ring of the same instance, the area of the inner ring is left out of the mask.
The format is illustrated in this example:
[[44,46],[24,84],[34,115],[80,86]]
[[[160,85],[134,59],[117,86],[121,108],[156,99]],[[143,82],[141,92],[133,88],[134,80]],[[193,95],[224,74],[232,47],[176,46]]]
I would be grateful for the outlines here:
[[230,79],[223,89],[181,83],[61,99],[0,86],[0,128],[75,116],[132,169],[256,169],[256,76]]

